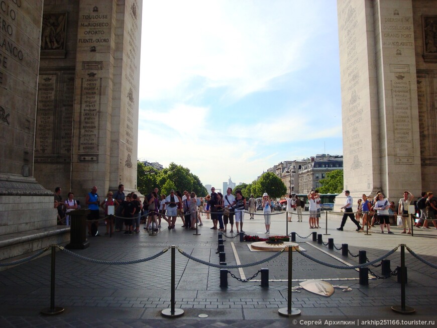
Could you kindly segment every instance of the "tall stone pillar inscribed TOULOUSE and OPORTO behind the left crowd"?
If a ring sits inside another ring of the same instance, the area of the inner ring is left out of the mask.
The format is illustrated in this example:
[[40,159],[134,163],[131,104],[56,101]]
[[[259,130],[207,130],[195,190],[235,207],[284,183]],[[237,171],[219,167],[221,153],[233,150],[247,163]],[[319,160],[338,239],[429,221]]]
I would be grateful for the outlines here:
[[137,185],[141,2],[81,0],[74,97],[73,190]]

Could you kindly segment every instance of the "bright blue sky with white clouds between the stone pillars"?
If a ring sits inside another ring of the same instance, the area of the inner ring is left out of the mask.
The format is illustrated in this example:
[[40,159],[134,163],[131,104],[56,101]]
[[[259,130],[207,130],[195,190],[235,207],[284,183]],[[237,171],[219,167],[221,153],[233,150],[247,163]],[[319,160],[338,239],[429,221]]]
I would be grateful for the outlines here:
[[342,155],[335,0],[143,1],[138,158],[201,182]]

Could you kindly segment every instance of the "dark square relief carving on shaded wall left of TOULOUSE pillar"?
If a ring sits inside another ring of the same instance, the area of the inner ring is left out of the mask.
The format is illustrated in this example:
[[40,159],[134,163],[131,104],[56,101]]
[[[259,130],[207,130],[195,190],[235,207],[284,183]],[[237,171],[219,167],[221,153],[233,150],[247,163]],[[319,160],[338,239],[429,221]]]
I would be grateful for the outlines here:
[[44,14],[41,31],[41,50],[65,49],[66,13]]

